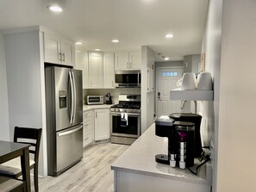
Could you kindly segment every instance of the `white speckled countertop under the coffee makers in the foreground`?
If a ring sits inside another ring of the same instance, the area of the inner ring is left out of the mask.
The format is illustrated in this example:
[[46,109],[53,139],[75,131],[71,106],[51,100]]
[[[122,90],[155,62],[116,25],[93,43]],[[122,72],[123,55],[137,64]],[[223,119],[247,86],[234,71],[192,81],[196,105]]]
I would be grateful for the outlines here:
[[[199,168],[200,176],[192,174],[187,169],[181,170],[178,167],[172,168],[167,164],[156,163],[155,155],[160,153],[167,154],[167,146],[167,138],[155,135],[155,124],[153,123],[139,139],[136,139],[132,146],[111,164],[111,169],[153,177],[164,177],[182,182],[211,185],[212,168],[210,163]],[[199,161],[195,158],[195,166],[198,164]]]

